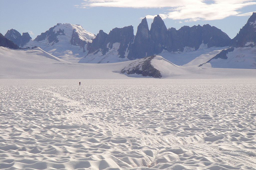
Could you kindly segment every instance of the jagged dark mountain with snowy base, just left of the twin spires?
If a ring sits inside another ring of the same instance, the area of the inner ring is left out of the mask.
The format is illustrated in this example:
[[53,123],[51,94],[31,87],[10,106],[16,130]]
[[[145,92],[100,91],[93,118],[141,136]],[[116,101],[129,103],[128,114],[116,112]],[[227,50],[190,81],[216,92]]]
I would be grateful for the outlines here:
[[129,60],[129,46],[132,42],[133,27],[114,28],[109,34],[99,31],[89,43],[88,55],[80,63],[116,63]]

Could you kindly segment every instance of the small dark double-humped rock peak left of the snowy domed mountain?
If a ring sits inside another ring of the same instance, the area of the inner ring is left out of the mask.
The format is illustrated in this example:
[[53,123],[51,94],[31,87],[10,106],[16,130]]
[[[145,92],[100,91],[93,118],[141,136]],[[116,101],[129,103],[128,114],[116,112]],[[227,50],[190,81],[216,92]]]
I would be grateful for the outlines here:
[[13,41],[19,47],[23,47],[25,44],[29,42],[29,40],[31,40],[29,33],[25,32],[21,35],[15,29],[8,30],[4,37]]

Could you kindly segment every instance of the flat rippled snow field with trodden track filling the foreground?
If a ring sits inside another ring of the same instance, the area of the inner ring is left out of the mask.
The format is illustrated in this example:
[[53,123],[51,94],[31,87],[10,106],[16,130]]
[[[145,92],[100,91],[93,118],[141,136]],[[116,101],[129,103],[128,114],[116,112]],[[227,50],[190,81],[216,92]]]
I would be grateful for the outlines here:
[[256,79],[1,79],[0,169],[256,170],[255,94]]

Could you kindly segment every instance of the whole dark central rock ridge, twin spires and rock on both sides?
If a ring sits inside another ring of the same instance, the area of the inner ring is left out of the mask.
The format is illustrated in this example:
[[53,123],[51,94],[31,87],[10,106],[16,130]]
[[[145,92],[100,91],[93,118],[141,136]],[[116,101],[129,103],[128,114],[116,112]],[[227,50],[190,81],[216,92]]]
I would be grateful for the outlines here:
[[[136,36],[133,36],[133,27],[114,28],[106,35],[100,31],[91,44],[88,45],[89,54],[97,54],[99,51],[106,55],[112,49],[113,43],[120,43],[118,55],[128,59],[144,58],[161,53],[163,50],[169,52],[183,52],[184,47],[198,50],[202,43],[210,47],[230,46],[230,37],[216,27],[211,25],[184,26],[179,30],[167,29],[162,18],[157,15],[151,24],[150,30],[146,17],[139,24]],[[127,48],[128,47],[128,48]],[[127,51],[128,50],[128,51]]]

